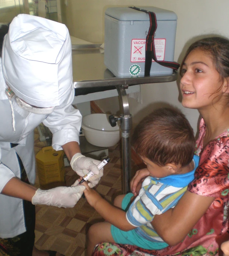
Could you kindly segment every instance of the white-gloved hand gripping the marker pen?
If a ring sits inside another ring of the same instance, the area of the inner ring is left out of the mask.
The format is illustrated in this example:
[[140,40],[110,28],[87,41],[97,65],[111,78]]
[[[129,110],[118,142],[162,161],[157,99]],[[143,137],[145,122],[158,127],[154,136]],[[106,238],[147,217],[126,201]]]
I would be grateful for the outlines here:
[[[85,157],[81,153],[76,153],[73,155],[70,165],[72,169],[81,177],[92,171],[95,173],[88,180],[91,182],[90,187],[95,187],[100,181],[100,178],[103,176],[103,168],[98,170],[97,165],[100,163],[99,160],[95,160],[89,157]],[[74,185],[74,184],[73,184]]]

